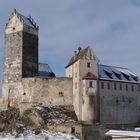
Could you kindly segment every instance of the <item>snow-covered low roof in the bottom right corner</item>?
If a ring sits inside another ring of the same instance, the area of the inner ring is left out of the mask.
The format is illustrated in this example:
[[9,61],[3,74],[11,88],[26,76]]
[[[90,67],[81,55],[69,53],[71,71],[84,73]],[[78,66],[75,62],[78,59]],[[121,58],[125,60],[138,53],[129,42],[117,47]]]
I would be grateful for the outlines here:
[[124,137],[140,137],[140,132],[123,131],[123,130],[109,130],[105,133],[106,136],[124,136]]

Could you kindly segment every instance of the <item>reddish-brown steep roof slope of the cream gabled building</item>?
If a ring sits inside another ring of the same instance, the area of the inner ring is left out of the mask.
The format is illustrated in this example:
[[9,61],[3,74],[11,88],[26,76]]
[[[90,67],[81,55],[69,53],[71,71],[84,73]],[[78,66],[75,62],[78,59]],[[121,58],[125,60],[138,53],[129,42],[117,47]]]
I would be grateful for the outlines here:
[[82,49],[81,51],[79,51],[77,54],[75,54],[75,56],[73,56],[70,61],[68,62],[67,67],[69,67],[70,65],[72,65],[73,63],[75,63],[77,60],[82,59],[83,56],[87,53],[89,47]]

